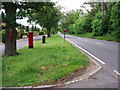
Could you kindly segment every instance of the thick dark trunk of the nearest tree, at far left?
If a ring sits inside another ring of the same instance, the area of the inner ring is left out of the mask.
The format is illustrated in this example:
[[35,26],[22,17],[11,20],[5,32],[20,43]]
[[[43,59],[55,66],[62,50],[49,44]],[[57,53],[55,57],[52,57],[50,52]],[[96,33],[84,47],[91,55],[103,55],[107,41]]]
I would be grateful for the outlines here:
[[[16,37],[17,31],[16,27],[16,6],[12,2],[4,3],[6,11],[6,39],[5,39],[5,55],[6,56],[15,56],[17,55],[16,51]],[[10,35],[10,30],[12,34]]]

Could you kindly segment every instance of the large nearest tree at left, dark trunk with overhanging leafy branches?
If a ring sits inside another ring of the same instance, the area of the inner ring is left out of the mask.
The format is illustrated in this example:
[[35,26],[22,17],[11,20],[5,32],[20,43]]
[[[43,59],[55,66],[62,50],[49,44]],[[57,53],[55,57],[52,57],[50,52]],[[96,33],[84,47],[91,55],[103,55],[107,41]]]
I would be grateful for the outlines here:
[[[16,10],[19,8],[19,15],[25,16],[26,13],[31,13],[32,11],[47,13],[43,11],[43,6],[49,6],[49,2],[3,2],[3,8],[6,13],[6,40],[5,40],[5,55],[6,56],[15,56],[17,55],[16,51],[16,36],[17,31],[16,27]],[[25,14],[23,12],[26,12]],[[20,18],[21,18],[20,17]],[[12,35],[10,35],[10,30],[12,30]]]

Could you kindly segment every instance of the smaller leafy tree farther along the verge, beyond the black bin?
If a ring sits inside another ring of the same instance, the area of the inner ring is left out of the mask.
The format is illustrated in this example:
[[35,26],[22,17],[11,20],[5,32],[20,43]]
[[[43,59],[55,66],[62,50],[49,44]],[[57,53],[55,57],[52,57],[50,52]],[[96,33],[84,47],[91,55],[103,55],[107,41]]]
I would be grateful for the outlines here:
[[60,20],[61,12],[58,7],[55,7],[54,3],[51,3],[49,7],[44,6],[43,10],[45,13],[34,12],[30,14],[29,22],[34,21],[43,28],[47,29],[47,36],[50,37],[51,28],[56,28]]

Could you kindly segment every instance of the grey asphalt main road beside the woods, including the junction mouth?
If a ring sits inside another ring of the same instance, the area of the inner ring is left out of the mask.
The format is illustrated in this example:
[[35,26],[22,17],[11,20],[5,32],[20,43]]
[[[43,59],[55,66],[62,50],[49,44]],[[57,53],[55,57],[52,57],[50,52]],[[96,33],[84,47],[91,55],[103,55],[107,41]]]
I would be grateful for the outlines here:
[[[58,33],[63,37],[62,33]],[[118,45],[120,43],[66,35],[66,39],[97,58],[103,69],[92,77],[61,88],[118,88]]]

